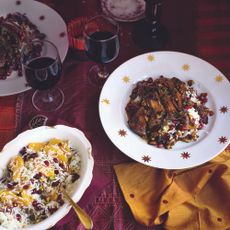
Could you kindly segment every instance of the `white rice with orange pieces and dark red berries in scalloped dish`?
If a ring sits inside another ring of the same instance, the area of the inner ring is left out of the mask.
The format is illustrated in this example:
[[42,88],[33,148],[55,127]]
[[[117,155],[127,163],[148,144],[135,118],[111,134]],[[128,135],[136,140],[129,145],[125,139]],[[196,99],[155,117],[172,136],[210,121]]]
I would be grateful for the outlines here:
[[67,140],[23,147],[0,179],[0,225],[20,229],[49,217],[64,203],[61,187],[72,190],[80,167],[79,153]]

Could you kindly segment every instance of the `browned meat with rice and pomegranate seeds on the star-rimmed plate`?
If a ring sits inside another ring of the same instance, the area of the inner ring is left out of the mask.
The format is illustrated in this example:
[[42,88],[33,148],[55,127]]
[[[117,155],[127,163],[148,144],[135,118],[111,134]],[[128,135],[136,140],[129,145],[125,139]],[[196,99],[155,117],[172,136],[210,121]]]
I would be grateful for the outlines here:
[[139,81],[125,108],[131,130],[159,148],[196,141],[213,112],[205,106],[207,93],[198,94],[193,84],[164,76]]

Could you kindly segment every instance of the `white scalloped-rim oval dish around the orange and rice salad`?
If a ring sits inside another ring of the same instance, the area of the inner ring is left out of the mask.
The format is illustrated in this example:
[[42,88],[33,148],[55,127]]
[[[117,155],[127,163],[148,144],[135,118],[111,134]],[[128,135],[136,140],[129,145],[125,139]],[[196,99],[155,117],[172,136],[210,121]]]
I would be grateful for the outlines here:
[[[51,138],[58,138],[62,140],[70,140],[70,146],[77,149],[81,156],[81,170],[80,178],[77,180],[72,193],[72,199],[78,202],[82,197],[86,188],[90,185],[92,180],[92,171],[94,160],[92,157],[92,147],[85,135],[76,128],[71,128],[64,125],[57,125],[54,127],[42,126],[32,130],[25,131],[19,134],[15,139],[6,144],[0,153],[0,177],[2,170],[6,168],[9,160],[19,150],[31,142],[44,142]],[[70,210],[71,206],[65,203],[54,214],[38,224],[32,225],[27,230],[48,229],[55,225],[62,219]],[[77,218],[77,217],[76,217]],[[6,229],[0,226],[0,229]]]

